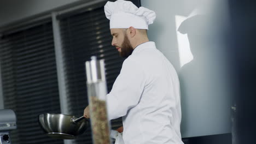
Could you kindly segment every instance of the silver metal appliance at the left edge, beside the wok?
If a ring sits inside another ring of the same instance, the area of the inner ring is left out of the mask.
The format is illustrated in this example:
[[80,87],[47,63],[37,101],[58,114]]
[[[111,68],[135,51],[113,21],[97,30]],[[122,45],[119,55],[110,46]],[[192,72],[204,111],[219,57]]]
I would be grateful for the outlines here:
[[9,131],[16,129],[16,115],[13,110],[0,110],[0,144],[10,144]]

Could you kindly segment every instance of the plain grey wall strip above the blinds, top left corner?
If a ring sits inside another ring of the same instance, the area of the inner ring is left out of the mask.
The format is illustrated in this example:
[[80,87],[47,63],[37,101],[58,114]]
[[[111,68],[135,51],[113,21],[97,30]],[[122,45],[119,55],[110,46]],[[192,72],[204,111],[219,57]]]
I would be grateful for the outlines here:
[[0,27],[79,0],[8,0],[0,1]]

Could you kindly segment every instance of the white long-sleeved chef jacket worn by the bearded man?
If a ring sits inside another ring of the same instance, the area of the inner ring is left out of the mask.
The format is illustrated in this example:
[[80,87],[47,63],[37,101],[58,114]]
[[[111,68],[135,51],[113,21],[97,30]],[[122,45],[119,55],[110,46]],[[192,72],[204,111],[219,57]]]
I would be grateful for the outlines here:
[[123,117],[125,144],[183,143],[178,76],[153,41],[125,59],[107,110],[109,119]]

